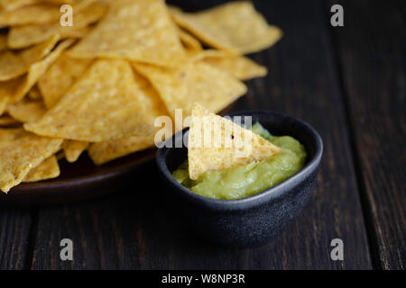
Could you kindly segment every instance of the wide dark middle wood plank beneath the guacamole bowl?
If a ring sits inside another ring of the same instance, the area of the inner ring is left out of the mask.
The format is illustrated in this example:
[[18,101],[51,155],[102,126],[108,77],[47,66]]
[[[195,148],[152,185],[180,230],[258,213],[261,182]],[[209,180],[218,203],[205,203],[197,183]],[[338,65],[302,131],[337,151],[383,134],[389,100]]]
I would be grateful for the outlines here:
[[[219,2],[193,1],[208,6]],[[154,163],[130,177],[121,193],[102,200],[42,209],[32,268],[357,269],[371,268],[364,220],[336,67],[320,1],[255,2],[284,39],[254,58],[270,75],[250,81],[230,111],[269,109],[309,121],[325,154],[309,206],[280,238],[252,249],[231,249],[195,237]],[[117,189],[118,190],[118,189]],[[60,239],[71,238],[74,260],[60,261]],[[345,260],[330,259],[342,238]]]

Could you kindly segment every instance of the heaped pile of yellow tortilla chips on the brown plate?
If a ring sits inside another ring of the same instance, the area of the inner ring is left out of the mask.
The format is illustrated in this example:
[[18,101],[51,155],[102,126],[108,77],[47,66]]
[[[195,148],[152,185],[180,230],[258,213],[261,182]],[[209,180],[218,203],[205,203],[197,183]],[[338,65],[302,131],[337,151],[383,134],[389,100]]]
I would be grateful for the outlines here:
[[223,110],[268,72],[243,54],[280,38],[249,2],[190,14],[163,0],[0,0],[0,189],[57,177],[62,157],[102,165],[152,147],[154,120],[175,109]]

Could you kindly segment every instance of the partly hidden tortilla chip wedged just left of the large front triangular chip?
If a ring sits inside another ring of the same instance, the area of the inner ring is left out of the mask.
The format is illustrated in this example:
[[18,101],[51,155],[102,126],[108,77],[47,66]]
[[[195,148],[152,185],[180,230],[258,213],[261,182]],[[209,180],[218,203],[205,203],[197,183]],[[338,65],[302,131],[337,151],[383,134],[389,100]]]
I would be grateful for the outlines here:
[[69,58],[63,53],[38,81],[43,101],[51,108],[90,66],[90,59]]

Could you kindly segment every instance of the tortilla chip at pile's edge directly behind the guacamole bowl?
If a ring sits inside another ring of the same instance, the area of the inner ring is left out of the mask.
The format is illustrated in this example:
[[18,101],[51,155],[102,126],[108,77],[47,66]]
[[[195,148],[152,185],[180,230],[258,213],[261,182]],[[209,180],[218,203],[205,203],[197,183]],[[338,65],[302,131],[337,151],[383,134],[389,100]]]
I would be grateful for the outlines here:
[[201,62],[171,70],[140,63],[133,66],[158,90],[172,117],[177,108],[189,115],[196,102],[219,112],[246,93],[244,83]]

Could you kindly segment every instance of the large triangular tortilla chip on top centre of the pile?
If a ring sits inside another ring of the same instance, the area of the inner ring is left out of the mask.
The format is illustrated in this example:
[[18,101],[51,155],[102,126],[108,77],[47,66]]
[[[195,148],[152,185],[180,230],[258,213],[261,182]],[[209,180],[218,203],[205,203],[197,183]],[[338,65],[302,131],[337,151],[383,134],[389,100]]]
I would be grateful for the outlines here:
[[116,0],[97,27],[70,51],[74,58],[126,58],[177,67],[185,61],[161,0]]

